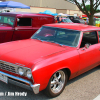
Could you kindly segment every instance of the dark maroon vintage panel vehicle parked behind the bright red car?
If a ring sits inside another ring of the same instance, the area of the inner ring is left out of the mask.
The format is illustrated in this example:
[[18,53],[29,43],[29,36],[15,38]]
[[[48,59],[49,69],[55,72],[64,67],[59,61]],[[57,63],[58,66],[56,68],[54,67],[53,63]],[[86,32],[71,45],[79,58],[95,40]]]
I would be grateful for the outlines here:
[[55,23],[54,16],[26,12],[0,14],[0,43],[28,39],[42,25]]

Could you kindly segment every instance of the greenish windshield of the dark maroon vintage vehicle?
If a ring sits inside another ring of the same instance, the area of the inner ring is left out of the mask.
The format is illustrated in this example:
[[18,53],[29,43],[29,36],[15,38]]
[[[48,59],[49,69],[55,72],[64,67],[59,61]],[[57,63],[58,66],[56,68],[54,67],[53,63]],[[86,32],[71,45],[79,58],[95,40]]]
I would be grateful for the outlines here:
[[14,17],[0,16],[0,23],[9,24],[9,25],[13,26],[14,20],[15,20]]

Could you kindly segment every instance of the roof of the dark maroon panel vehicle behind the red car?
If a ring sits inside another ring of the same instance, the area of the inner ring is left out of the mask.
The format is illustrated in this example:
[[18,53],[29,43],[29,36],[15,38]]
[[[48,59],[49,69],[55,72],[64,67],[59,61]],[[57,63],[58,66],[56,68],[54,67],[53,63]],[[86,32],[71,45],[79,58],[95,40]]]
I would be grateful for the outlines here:
[[0,15],[6,15],[6,16],[47,16],[47,17],[54,17],[52,15],[48,14],[39,14],[39,13],[31,13],[31,12],[6,12],[6,13],[0,13]]

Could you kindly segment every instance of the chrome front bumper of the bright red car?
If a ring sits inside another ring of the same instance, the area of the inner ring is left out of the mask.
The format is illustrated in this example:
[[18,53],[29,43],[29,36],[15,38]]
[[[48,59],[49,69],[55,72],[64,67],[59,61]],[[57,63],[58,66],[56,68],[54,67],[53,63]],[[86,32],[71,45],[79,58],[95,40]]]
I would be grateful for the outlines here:
[[40,84],[34,84],[33,85],[28,80],[25,80],[23,78],[19,78],[19,77],[4,73],[2,71],[0,71],[0,74],[8,77],[8,83],[17,85],[17,86],[22,87],[22,88],[26,88],[28,90],[32,90],[34,92],[34,94],[38,94],[39,93]]

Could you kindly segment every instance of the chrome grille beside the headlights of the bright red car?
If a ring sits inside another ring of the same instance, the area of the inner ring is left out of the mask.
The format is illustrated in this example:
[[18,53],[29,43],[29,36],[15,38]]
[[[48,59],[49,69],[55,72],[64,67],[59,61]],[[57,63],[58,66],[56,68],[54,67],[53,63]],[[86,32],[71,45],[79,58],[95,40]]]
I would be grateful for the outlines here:
[[16,68],[11,63],[0,61],[0,68],[9,72],[16,73]]

